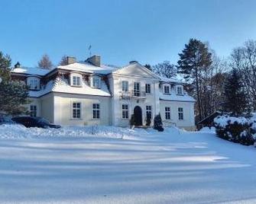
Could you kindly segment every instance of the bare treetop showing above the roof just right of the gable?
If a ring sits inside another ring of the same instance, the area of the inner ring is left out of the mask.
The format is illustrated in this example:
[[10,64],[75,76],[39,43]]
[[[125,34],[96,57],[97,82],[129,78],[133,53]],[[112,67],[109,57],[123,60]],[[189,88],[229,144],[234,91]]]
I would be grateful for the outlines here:
[[153,66],[153,71],[162,77],[172,78],[177,75],[177,68],[172,65],[169,61],[164,61]]

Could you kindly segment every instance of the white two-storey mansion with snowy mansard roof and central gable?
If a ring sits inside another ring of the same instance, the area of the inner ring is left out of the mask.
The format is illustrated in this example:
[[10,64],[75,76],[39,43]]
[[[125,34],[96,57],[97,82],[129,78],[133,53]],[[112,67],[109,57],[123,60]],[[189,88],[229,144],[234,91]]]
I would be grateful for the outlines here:
[[181,81],[160,78],[136,61],[122,68],[102,65],[100,56],[55,69],[23,68],[15,65],[11,77],[27,83],[31,90],[31,116],[43,116],[60,125],[129,126],[134,114],[137,126],[146,116],[160,113],[164,125],[193,130],[194,103]]

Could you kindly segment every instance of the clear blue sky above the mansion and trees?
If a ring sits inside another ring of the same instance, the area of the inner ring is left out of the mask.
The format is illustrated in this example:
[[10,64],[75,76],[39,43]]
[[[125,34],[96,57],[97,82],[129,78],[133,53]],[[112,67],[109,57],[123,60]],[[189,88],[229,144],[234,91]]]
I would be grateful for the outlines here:
[[88,47],[106,64],[177,62],[193,37],[228,56],[256,40],[254,0],[0,0],[0,50],[13,63],[36,66],[47,53],[86,59]]

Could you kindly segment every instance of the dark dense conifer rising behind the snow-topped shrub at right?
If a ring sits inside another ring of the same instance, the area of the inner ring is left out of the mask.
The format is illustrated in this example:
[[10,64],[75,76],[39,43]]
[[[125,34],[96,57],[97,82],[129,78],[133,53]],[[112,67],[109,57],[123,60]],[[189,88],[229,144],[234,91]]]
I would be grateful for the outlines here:
[[225,81],[225,104],[224,108],[228,112],[239,115],[245,112],[247,107],[247,96],[243,88],[241,76],[236,69],[228,75]]

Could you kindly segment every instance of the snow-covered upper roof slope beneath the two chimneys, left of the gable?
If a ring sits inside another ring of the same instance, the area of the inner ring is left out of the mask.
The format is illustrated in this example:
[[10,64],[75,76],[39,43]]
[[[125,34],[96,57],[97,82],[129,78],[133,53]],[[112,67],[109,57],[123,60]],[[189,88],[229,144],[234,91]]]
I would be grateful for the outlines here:
[[89,72],[89,73],[95,73],[99,75],[108,75],[118,69],[118,67],[112,66],[112,65],[101,65],[95,66],[92,65],[89,62],[76,62],[70,65],[63,65],[58,66],[58,69],[66,69],[70,71],[77,71],[77,72]]

